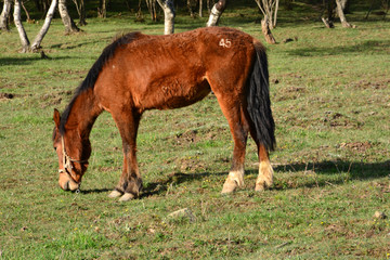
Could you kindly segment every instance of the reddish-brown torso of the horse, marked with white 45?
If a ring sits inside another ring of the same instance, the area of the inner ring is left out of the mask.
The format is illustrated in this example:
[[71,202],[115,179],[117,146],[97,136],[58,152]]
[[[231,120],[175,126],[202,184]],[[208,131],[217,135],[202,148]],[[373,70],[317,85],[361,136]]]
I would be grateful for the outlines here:
[[225,27],[140,35],[118,48],[95,92],[108,109],[114,104],[140,110],[182,107],[205,98],[211,81],[216,88],[225,84],[224,91],[233,91],[248,74],[253,53],[251,36]]

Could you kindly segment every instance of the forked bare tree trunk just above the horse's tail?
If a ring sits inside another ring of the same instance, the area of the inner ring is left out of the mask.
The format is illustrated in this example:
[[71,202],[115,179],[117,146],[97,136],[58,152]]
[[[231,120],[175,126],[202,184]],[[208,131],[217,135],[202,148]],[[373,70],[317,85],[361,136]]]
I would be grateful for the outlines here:
[[263,20],[261,21],[261,30],[265,37],[268,43],[276,43],[275,38],[273,37],[271,29],[276,26],[277,18],[277,9],[280,0],[255,0],[259,6],[261,13],[263,14]]

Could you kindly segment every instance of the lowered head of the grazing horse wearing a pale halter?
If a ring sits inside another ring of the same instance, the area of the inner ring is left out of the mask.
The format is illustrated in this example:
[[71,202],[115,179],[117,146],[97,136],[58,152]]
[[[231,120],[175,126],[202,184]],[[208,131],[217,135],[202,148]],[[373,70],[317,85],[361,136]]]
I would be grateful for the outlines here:
[[58,184],[64,191],[78,191],[91,154],[89,139],[83,140],[78,129],[60,131],[61,116],[54,109],[53,147],[58,156]]

